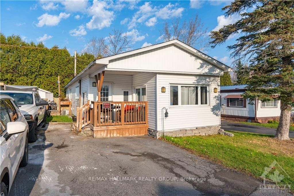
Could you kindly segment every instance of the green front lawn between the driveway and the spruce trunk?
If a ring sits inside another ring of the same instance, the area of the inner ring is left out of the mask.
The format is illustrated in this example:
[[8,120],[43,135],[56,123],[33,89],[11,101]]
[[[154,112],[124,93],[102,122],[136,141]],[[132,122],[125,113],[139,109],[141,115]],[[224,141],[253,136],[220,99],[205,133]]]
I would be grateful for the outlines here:
[[[260,177],[265,167],[276,160],[288,173],[276,168],[285,178],[280,184],[288,184],[294,191],[294,140],[278,141],[273,136],[248,132],[233,132],[234,137],[220,134],[210,136],[169,137],[164,140],[191,150],[195,155],[217,162],[254,177]],[[275,168],[266,176],[270,179]]]

